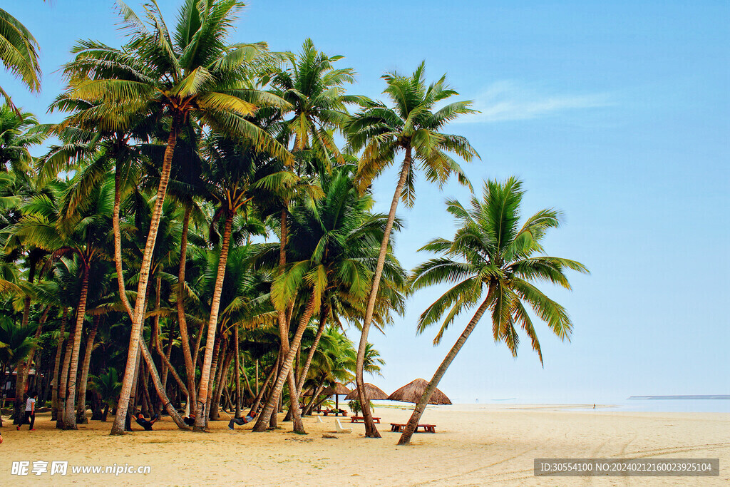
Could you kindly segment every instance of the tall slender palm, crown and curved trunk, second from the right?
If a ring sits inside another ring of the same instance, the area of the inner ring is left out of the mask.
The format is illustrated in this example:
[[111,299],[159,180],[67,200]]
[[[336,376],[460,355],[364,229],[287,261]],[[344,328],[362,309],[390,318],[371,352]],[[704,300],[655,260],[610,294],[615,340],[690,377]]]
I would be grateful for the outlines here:
[[364,396],[363,361],[398,202],[403,199],[407,205],[412,206],[415,201],[412,171],[414,161],[420,163],[420,169],[431,183],[438,183],[440,186],[450,175],[456,175],[459,183],[469,185],[461,167],[448,153],[455,153],[465,161],[478,157],[464,137],[440,132],[447,123],[459,115],[474,112],[469,108],[470,101],[456,101],[434,112],[436,104],[458,94],[446,85],[445,75],[426,87],[425,66],[421,63],[411,76],[401,76],[393,72],[384,74],[383,78],[388,83],[383,93],[391,98],[394,107],[389,108],[380,101],[366,103],[364,110],[358,112],[350,121],[348,129],[350,148],[355,151],[364,149],[358,170],[361,191],[368,188],[374,177],[377,177],[386,166],[393,164],[396,153],[401,150],[404,152],[399,180],[388,213],[388,223],[380,245],[380,256],[372,280],[358,347],[356,383],[360,402],[364,404],[365,436],[376,438],[380,437],[380,433],[372,421],[372,414]]

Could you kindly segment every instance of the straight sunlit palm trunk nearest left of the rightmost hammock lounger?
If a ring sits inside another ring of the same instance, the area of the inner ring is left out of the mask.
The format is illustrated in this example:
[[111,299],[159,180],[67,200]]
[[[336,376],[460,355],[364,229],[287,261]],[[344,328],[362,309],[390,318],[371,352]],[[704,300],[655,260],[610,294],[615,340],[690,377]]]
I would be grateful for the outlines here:
[[223,278],[226,277],[226,262],[228,261],[228,246],[231,243],[231,226],[233,225],[233,212],[226,214],[226,226],[223,229],[223,242],[220,245],[220,258],[218,258],[218,275],[215,277],[215,290],[210,303],[210,320],[208,321],[208,336],[203,359],[203,368],[200,373],[200,388],[195,415],[195,429],[204,429],[207,411],[205,404],[208,397],[208,381],[210,380],[210,367],[213,361],[213,350],[210,343],[215,341],[215,331],[218,329],[218,308],[220,308],[220,294],[223,292]]

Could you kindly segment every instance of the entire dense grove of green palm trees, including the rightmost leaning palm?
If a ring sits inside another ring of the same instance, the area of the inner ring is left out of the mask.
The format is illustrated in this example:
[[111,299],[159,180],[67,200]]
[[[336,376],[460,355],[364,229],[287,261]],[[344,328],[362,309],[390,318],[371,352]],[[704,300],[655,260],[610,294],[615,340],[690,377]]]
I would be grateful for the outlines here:
[[[461,164],[483,163],[450,123],[475,110],[445,75],[425,62],[388,72],[371,99],[312,39],[291,52],[233,42],[242,2],[181,2],[165,18],[153,0],[119,1],[120,44],[78,40],[48,107],[59,123],[2,91],[0,384],[15,377],[15,424],[33,391],[58,429],[107,421],[123,434],[141,412],[183,435],[258,413],[251,431],[265,432],[286,413],[304,434],[302,417],[334,407],[321,392],[342,383],[358,388],[365,436],[380,437],[364,383],[387,364],[369,337],[447,283],[418,332],[466,330],[404,444],[483,315],[515,355],[518,329],[540,353],[537,321],[569,339],[566,310],[536,285],[569,288],[564,271],[586,269],[542,247],[559,212],[520,221],[518,180],[472,188]],[[4,75],[38,91],[37,42],[9,12],[0,22]],[[372,187],[388,166],[398,177],[380,213]],[[423,224],[396,215],[417,176],[474,196],[448,202],[455,237],[426,244],[443,256],[409,272],[393,237]]]

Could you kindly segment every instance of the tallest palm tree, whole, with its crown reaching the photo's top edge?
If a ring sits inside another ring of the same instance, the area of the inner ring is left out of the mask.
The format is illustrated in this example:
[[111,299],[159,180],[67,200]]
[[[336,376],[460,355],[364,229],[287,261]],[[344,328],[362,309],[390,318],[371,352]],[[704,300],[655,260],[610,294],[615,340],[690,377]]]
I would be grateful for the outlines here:
[[[172,156],[180,129],[191,116],[217,131],[251,140],[262,150],[286,158],[285,147],[246,119],[261,104],[287,104],[276,96],[249,89],[253,67],[266,64],[264,44],[228,44],[232,22],[243,4],[237,0],[186,0],[180,8],[174,33],[168,30],[155,0],[145,6],[146,22],[119,1],[123,26],[130,42],[115,49],[99,42],[84,41],[74,49],[76,58],[66,66],[68,96],[99,104],[96,113],[80,114],[99,120],[104,115],[129,113],[144,118],[164,115],[169,121],[157,199],[145,253],[139,271],[137,302],[132,313],[127,367],[123,378],[118,414],[112,434],[123,434],[128,399],[139,350],[139,331],[145,318],[145,296],[150,264],[161,218]],[[110,117],[107,117],[110,118]],[[200,404],[200,398],[197,398]]]

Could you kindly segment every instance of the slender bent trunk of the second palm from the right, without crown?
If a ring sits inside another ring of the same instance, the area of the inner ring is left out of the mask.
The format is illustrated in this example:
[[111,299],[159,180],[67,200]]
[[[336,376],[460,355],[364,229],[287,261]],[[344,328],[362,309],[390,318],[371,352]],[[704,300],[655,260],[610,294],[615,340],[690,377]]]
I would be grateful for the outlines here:
[[365,436],[368,438],[380,438],[380,432],[377,431],[375,422],[372,420],[370,404],[365,396],[365,381],[363,379],[365,348],[367,345],[367,336],[370,331],[370,323],[372,322],[372,315],[375,310],[375,302],[377,301],[377,291],[378,288],[380,288],[380,277],[383,275],[385,255],[388,253],[388,242],[390,242],[391,239],[391,229],[393,229],[393,222],[396,220],[396,210],[398,209],[401,192],[403,191],[403,186],[406,183],[408,172],[410,171],[410,164],[411,149],[408,147],[406,149],[406,156],[403,159],[403,166],[401,166],[401,176],[398,180],[398,184],[396,185],[396,192],[393,194],[391,210],[388,212],[388,223],[385,223],[383,242],[380,242],[380,254],[377,256],[377,266],[375,267],[375,275],[372,278],[372,288],[370,288],[370,296],[367,300],[365,319],[363,321],[362,332],[360,334],[360,346],[358,347],[358,360],[355,367],[355,382],[358,386],[358,397],[360,398],[360,404],[362,404],[363,408],[363,417],[365,418]]

